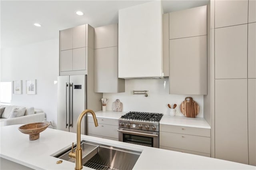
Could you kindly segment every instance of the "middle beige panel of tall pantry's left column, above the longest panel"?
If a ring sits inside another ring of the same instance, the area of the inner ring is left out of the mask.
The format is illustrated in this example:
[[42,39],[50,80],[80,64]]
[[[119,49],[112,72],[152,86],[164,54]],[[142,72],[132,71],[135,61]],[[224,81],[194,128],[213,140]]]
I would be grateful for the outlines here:
[[247,78],[247,24],[215,29],[215,78]]

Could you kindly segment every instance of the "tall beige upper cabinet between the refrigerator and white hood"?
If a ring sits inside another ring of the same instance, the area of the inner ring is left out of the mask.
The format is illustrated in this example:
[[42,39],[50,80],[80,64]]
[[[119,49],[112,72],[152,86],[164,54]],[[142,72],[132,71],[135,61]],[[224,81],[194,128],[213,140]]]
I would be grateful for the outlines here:
[[94,29],[94,92],[124,92],[124,79],[118,78],[118,25]]

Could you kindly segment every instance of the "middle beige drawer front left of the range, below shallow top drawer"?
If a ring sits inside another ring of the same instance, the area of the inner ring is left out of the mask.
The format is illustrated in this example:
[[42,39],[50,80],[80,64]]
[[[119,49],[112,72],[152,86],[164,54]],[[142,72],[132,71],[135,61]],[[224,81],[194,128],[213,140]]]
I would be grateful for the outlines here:
[[118,138],[118,126],[98,124],[98,127],[94,126],[94,123],[88,122],[88,134],[96,134],[100,136],[107,136],[110,138]]

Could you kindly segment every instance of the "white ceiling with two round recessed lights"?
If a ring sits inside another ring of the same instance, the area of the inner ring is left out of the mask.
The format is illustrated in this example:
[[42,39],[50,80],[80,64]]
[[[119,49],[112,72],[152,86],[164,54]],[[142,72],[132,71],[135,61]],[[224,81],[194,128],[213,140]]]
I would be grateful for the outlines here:
[[[151,0],[0,0],[1,48],[58,38],[59,30],[118,22],[118,10]],[[162,0],[164,13],[203,6],[208,0]],[[76,11],[84,12],[83,16]],[[42,27],[33,24],[39,23]]]

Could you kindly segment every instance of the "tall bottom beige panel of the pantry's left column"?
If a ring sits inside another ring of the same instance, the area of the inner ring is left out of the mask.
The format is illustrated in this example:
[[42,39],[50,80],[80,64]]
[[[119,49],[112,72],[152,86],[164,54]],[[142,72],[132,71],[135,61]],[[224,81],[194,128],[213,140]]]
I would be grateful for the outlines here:
[[215,80],[215,158],[248,164],[247,79]]

